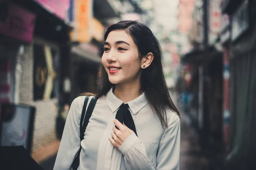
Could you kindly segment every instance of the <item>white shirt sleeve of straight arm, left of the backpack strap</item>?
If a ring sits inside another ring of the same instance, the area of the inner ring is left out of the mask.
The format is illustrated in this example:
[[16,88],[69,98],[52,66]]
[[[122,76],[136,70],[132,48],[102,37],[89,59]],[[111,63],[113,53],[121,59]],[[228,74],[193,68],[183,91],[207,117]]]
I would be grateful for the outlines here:
[[53,170],[71,170],[75,155],[80,148],[80,119],[82,97],[74,99],[70,106]]

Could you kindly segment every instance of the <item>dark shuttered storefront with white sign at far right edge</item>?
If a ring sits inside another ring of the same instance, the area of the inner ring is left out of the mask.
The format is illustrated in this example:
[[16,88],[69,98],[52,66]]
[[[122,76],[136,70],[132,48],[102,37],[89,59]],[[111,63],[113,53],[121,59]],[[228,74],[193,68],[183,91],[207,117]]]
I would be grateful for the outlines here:
[[[233,4],[233,5],[232,5]],[[256,2],[227,2],[230,16],[231,148],[226,169],[256,169]],[[235,4],[235,5],[234,5]],[[232,7],[232,8],[231,8]]]

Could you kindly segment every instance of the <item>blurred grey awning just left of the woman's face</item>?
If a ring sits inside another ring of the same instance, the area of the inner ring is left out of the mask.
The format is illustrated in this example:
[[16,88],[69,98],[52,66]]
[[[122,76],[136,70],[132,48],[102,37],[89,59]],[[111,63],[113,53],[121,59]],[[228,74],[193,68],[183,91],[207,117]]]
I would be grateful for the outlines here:
[[81,45],[72,47],[71,53],[74,56],[75,62],[88,62],[91,64],[101,63],[101,57],[99,56],[99,54],[88,51],[82,48]]

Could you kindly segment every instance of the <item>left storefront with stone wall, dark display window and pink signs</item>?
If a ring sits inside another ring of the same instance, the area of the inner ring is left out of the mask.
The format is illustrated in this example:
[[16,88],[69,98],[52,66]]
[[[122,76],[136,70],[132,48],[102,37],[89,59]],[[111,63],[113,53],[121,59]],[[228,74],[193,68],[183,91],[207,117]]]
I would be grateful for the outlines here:
[[68,57],[70,42],[70,27],[64,22],[69,0],[61,0],[61,7],[57,3],[6,0],[1,4],[7,9],[0,24],[4,37],[0,39],[0,53],[4,54],[1,65],[7,67],[1,70],[6,76],[0,96],[3,101],[36,108],[32,151],[57,139],[55,119],[60,112],[61,62]]

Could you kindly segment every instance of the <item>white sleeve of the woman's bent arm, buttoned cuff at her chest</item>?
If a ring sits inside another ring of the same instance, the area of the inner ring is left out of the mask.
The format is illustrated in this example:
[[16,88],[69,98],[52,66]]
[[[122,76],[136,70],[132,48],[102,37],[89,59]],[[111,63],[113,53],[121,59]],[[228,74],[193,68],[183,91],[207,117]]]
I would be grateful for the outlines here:
[[118,148],[124,155],[127,170],[179,170],[180,169],[180,118],[171,117],[157,152],[157,164],[148,159],[145,145],[131,134]]

